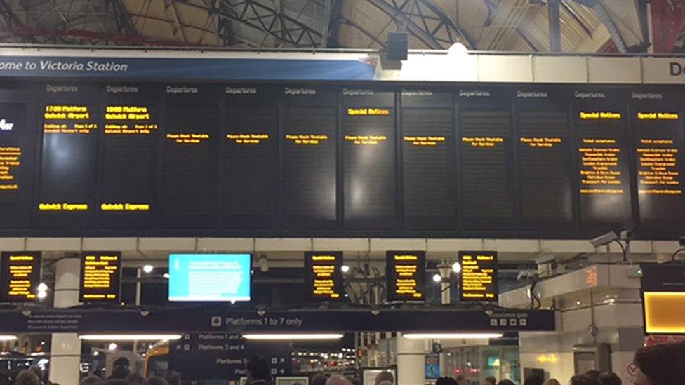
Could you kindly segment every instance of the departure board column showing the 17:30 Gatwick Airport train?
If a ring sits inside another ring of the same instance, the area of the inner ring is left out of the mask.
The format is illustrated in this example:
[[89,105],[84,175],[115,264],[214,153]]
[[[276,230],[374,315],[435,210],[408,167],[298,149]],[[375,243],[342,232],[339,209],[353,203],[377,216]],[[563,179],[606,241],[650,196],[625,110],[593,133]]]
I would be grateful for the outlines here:
[[91,229],[100,133],[100,88],[51,83],[44,88],[36,227]]

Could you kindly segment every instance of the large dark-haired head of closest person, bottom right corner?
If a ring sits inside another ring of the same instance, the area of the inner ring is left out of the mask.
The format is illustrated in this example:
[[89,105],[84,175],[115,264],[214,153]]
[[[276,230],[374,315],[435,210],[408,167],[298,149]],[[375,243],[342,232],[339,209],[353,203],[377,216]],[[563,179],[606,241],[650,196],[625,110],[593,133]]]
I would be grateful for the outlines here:
[[635,352],[628,374],[636,385],[685,384],[685,343],[647,346]]

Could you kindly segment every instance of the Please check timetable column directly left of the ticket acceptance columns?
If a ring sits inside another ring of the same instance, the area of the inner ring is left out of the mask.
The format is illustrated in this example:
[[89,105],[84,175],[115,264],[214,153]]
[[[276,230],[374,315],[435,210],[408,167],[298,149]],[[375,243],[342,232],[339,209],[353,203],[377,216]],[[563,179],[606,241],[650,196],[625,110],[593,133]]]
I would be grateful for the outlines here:
[[517,176],[521,224],[566,229],[573,224],[571,121],[564,90],[517,88]]

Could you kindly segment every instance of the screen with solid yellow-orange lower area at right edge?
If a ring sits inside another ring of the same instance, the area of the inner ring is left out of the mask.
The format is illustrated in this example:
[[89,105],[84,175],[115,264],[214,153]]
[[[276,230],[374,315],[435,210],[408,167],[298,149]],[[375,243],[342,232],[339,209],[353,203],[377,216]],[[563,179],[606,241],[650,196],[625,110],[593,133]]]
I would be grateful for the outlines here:
[[685,266],[645,264],[641,280],[645,332],[685,334]]

